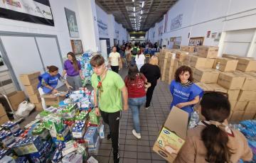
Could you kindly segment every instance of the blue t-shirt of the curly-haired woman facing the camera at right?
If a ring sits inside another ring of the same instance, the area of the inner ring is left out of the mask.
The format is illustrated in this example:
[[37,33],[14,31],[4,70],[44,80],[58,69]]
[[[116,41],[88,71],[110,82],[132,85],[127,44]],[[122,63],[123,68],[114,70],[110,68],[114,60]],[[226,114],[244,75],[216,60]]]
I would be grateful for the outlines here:
[[[176,106],[178,103],[184,103],[188,101],[192,101],[199,96],[201,98],[203,96],[203,90],[197,86],[196,84],[191,84],[190,86],[182,86],[181,83],[173,80],[170,84],[171,95],[173,96],[173,101],[171,102],[170,108]],[[193,106],[185,106],[181,108],[183,111],[188,112],[189,117],[193,112]]]

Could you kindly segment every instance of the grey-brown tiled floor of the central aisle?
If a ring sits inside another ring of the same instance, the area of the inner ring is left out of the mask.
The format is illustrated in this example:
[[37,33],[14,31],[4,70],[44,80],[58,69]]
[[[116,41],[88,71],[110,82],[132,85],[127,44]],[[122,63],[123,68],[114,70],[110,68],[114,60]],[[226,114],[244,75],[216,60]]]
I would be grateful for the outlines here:
[[[127,71],[122,70],[122,77]],[[142,139],[137,140],[132,135],[133,123],[132,112],[122,112],[122,118],[119,130],[119,154],[123,163],[156,163],[166,162],[152,147],[156,137],[169,114],[171,95],[166,83],[159,81],[155,90],[151,106],[148,109],[141,108],[140,124],[142,129]],[[96,159],[100,163],[113,162],[111,140],[103,139],[100,145],[100,151]]]

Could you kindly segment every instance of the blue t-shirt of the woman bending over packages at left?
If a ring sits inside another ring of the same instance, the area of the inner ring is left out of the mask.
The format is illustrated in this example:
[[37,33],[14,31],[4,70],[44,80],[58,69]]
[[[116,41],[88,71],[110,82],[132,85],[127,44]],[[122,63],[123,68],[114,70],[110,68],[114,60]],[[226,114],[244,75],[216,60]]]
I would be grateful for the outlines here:
[[46,82],[46,84],[55,88],[58,85],[58,79],[60,79],[60,77],[61,75],[59,73],[55,76],[51,76],[48,72],[41,74],[38,77],[38,80],[39,80],[38,88],[41,87],[43,89],[43,92],[45,92],[46,94],[50,94],[50,92],[53,90],[48,89],[46,86],[43,86],[42,79]]

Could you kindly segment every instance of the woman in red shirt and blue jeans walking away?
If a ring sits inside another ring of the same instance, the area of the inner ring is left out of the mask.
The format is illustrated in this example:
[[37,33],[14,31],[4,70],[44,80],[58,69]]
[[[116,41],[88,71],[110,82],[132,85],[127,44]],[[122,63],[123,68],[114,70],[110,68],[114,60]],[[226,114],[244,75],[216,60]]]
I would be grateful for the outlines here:
[[134,130],[132,134],[140,139],[141,130],[139,126],[139,108],[146,102],[146,91],[144,85],[147,80],[144,74],[139,73],[139,69],[136,65],[129,67],[128,75],[124,79],[125,86],[128,90],[128,104],[132,109],[132,118],[134,123]]

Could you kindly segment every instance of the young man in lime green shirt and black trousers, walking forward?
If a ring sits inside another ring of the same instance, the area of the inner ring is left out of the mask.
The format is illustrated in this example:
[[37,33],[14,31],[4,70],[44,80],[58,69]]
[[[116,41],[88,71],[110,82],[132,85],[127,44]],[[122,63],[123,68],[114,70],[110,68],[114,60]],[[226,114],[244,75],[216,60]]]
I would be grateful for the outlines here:
[[[123,110],[128,110],[127,88],[119,74],[107,69],[102,55],[95,55],[90,60],[92,69],[92,87],[94,89],[95,113],[110,127],[114,163],[119,162],[118,139],[119,121],[122,111],[122,96],[124,99]],[[122,93],[122,96],[121,96]]]

